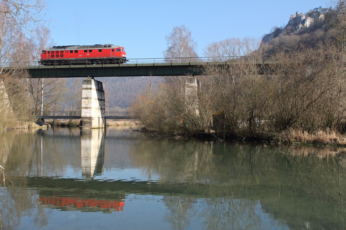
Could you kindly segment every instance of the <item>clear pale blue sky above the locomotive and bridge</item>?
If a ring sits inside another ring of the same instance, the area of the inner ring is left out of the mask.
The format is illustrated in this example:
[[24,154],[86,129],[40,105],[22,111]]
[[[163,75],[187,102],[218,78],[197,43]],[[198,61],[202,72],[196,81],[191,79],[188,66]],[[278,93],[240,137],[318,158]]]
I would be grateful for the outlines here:
[[198,44],[262,37],[286,25],[295,12],[308,12],[327,0],[46,0],[52,38],[57,46],[115,44],[127,58],[162,58],[165,35],[184,24]]

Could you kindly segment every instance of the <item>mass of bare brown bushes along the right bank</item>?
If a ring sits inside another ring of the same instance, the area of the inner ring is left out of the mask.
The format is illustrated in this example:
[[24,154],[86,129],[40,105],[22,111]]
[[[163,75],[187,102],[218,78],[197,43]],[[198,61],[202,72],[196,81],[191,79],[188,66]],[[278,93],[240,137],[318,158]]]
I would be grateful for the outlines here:
[[139,126],[162,136],[195,136],[212,122],[221,139],[345,144],[343,52],[329,47],[264,54],[210,66],[193,96],[172,83],[148,87],[131,111]]

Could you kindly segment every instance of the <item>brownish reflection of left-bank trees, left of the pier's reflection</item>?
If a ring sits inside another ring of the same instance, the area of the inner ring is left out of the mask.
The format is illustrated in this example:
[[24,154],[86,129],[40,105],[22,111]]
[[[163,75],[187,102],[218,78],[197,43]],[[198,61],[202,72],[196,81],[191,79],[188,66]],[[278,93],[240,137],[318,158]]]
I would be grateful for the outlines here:
[[[52,138],[55,132],[61,136]],[[7,174],[14,170],[21,176],[64,175],[66,165],[80,166],[80,154],[71,153],[81,152],[79,136],[78,128],[7,131],[0,164]]]

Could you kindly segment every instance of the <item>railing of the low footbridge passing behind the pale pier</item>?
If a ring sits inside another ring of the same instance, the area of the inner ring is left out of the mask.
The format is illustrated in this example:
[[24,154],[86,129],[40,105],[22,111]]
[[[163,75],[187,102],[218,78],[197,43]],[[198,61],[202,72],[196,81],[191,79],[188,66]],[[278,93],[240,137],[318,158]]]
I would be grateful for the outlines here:
[[[35,112],[37,118],[52,118],[52,119],[81,119],[81,111],[37,111]],[[134,119],[134,114],[131,112],[105,112],[106,119]]]

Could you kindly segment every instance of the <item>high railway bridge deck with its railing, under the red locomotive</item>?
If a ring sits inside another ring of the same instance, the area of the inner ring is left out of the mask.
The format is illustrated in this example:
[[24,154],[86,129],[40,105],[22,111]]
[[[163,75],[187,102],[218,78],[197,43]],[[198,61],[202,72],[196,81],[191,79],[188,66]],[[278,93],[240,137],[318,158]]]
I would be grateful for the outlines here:
[[136,77],[136,76],[197,76],[205,75],[208,66],[227,64],[277,63],[277,57],[262,56],[260,61],[249,57],[198,57],[198,58],[150,58],[129,59],[126,64],[82,64],[40,66],[37,62],[1,63],[5,71],[25,69],[29,78],[70,77]]

